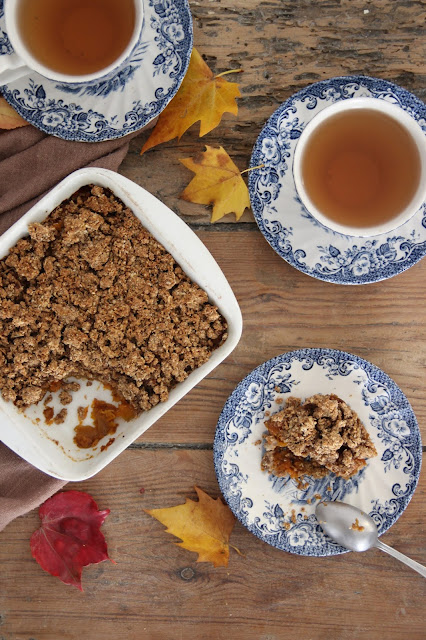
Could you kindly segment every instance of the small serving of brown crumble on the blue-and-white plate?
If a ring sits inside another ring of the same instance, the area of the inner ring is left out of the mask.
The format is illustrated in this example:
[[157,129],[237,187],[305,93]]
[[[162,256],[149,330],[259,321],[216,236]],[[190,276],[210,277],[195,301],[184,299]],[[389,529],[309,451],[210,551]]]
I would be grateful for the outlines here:
[[290,397],[265,426],[261,467],[276,476],[322,478],[333,472],[347,479],[377,455],[355,411],[334,394],[316,394],[304,403]]

